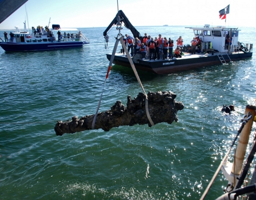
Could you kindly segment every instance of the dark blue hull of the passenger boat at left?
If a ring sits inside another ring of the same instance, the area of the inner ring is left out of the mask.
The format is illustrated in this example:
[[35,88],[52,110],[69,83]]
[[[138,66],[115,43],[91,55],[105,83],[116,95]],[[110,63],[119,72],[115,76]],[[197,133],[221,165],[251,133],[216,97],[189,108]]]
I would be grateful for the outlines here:
[[40,42],[40,43],[12,43],[12,42],[0,42],[0,47],[4,51],[45,51],[52,49],[65,49],[82,47],[83,42],[70,41],[70,42]]

